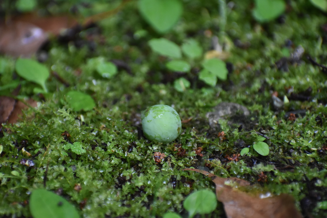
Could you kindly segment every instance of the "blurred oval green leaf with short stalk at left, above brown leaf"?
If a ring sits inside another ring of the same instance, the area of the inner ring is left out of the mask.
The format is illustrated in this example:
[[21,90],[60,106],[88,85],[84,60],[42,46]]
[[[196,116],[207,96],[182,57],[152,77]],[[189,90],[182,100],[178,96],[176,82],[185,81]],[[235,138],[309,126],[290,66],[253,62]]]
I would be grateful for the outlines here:
[[45,81],[49,77],[49,70],[43,64],[32,59],[18,59],[15,64],[15,69],[18,75],[24,79],[35,82],[42,86],[47,92]]

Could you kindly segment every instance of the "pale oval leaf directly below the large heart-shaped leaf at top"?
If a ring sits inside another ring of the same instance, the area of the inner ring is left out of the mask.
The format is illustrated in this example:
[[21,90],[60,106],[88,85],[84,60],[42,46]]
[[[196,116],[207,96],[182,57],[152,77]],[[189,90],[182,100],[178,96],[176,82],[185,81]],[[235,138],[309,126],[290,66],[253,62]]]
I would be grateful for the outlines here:
[[151,39],[149,41],[151,49],[160,55],[167,56],[169,58],[181,58],[180,47],[167,39]]

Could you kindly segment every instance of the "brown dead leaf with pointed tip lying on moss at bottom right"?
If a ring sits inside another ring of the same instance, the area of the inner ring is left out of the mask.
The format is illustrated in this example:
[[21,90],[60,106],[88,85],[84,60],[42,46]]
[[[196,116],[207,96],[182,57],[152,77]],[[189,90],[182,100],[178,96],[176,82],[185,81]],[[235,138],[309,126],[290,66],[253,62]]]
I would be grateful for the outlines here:
[[289,194],[272,195],[239,178],[222,178],[198,169],[184,170],[195,171],[212,179],[216,184],[217,199],[224,204],[228,218],[302,217]]

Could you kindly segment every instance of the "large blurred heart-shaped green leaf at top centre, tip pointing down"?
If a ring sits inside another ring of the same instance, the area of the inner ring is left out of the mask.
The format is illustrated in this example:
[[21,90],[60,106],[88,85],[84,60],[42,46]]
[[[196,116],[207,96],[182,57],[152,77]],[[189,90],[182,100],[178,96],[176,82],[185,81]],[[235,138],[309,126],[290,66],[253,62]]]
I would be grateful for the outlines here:
[[142,17],[158,33],[165,33],[180,19],[183,5],[179,0],[139,0]]

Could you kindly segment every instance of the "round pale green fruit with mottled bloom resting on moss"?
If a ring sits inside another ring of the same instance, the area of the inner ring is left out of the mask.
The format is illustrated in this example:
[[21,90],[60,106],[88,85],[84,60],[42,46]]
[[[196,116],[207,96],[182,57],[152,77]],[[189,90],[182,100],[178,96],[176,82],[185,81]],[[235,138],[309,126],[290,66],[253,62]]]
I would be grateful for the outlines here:
[[141,114],[143,134],[148,140],[161,143],[174,141],[181,133],[181,118],[168,105],[153,105]]

